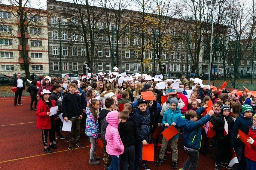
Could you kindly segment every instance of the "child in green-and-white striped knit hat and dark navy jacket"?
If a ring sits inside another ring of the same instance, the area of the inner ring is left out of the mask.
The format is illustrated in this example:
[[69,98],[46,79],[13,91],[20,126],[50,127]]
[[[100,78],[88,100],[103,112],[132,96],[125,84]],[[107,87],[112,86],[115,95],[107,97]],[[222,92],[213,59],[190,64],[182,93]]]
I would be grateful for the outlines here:
[[236,157],[239,161],[239,163],[234,165],[235,170],[245,169],[246,167],[246,158],[244,156],[245,144],[240,139],[238,139],[240,138],[238,135],[238,129],[242,130],[247,135],[249,127],[252,125],[251,118],[252,107],[248,104],[242,105],[242,114],[239,114],[239,117],[234,122],[230,139],[230,146],[235,149]]

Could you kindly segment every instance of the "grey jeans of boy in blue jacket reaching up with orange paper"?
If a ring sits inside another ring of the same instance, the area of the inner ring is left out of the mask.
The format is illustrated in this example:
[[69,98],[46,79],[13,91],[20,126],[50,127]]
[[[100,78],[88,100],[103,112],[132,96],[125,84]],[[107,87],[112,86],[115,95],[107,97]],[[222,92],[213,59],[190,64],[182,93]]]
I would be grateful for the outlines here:
[[182,165],[182,169],[189,169],[189,170],[196,169],[198,164],[198,155],[199,155],[198,151],[185,150],[185,152],[188,154],[188,158]]

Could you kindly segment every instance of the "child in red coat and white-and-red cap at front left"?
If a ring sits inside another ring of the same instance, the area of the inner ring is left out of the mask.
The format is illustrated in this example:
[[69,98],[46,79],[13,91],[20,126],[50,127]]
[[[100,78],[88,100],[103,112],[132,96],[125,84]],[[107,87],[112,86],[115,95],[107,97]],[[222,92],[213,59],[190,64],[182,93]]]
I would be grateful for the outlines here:
[[[51,153],[52,151],[50,148],[56,149],[57,146],[53,144],[53,139],[55,136],[55,129],[54,129],[54,122],[55,117],[49,116],[51,114],[50,107],[55,106],[55,101],[50,100],[50,91],[48,89],[43,89],[41,92],[41,100],[37,104],[37,111],[36,111],[36,127],[42,130],[42,139],[44,144],[44,152]],[[58,111],[58,109],[57,109]],[[50,145],[47,147],[47,137],[49,131],[49,138],[50,138]]]

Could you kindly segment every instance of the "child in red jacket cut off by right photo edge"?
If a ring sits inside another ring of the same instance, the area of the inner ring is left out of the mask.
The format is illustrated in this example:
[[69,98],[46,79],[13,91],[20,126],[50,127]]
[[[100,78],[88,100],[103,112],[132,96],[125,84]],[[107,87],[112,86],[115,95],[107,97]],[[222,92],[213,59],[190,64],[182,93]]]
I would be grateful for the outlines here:
[[247,142],[251,144],[251,148],[245,145],[245,157],[247,162],[247,170],[256,169],[256,114],[251,118],[252,126],[249,128]]

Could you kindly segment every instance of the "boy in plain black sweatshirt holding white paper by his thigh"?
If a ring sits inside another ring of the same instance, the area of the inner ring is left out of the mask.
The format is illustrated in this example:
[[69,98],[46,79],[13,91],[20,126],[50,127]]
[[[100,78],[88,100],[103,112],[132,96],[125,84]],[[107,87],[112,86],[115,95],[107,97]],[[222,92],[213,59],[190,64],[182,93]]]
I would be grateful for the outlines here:
[[82,148],[80,143],[80,120],[82,119],[82,107],[80,96],[75,93],[76,84],[71,83],[69,86],[69,92],[63,98],[63,114],[62,117],[67,122],[72,121],[72,127],[69,132],[69,150],[73,149],[73,129],[75,130],[76,145],[78,148]]

